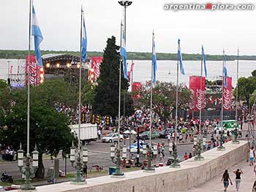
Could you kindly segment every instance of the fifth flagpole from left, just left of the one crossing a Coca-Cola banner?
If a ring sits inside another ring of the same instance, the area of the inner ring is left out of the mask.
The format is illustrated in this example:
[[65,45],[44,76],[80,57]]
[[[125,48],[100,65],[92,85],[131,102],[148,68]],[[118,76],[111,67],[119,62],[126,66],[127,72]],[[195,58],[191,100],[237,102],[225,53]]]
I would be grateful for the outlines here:
[[178,168],[181,165],[178,164],[178,151],[177,151],[177,128],[178,128],[178,58],[177,58],[177,74],[176,74],[176,115],[175,115],[175,120],[176,120],[176,126],[175,126],[175,146],[173,150],[173,164],[170,165],[170,167],[173,168]]

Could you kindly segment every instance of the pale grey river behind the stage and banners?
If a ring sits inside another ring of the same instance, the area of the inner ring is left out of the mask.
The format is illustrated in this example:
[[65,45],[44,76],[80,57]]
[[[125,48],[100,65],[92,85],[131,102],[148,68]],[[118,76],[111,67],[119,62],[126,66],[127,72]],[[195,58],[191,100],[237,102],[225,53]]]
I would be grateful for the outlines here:
[[[10,59],[12,72],[17,73],[18,65],[24,60]],[[131,61],[129,62],[129,67]],[[151,80],[151,61],[134,61],[133,82],[146,82]],[[179,82],[189,85],[189,76],[200,75],[200,61],[183,61],[185,75],[178,74]],[[208,80],[217,80],[222,75],[222,61],[206,61]],[[256,61],[239,61],[239,77],[249,77],[256,69]],[[8,72],[7,59],[0,59],[0,79],[6,79]],[[227,74],[232,77],[233,86],[236,86],[236,61],[227,61]],[[204,75],[204,74],[203,74]],[[157,61],[157,80],[176,82],[176,61]]]

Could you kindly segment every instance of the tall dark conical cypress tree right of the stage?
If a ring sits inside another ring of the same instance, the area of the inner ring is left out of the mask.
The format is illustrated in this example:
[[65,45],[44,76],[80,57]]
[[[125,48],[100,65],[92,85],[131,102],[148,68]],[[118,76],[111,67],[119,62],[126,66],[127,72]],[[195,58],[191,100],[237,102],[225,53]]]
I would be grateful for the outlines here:
[[[116,37],[108,38],[107,46],[103,54],[103,62],[100,65],[99,85],[95,90],[94,114],[118,116],[118,91],[119,91],[119,64],[120,55],[119,46],[116,45]],[[127,94],[129,84],[124,79],[121,69],[121,93],[126,93],[126,115],[133,112],[133,101]],[[123,97],[122,97],[123,100]],[[123,114],[123,104],[121,101],[121,114]]]

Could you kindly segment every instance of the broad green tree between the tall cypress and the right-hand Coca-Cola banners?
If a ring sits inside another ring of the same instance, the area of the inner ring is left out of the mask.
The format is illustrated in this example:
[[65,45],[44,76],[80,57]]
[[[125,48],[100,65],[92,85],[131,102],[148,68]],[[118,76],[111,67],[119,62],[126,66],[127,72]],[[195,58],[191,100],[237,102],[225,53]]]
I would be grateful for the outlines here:
[[[141,91],[135,94],[140,94],[140,99],[136,101],[136,105],[140,108],[150,107],[150,82],[143,85]],[[189,107],[188,88],[183,85],[178,85],[178,109],[188,109]],[[173,110],[176,110],[176,85],[172,82],[157,82],[153,88],[152,110],[157,112],[160,118],[166,123],[170,119]]]

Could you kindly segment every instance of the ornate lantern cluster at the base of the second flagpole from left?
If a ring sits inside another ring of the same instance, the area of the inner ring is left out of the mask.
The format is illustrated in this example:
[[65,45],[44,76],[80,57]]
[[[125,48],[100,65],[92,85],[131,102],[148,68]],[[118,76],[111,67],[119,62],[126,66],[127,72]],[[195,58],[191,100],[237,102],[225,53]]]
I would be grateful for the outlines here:
[[70,162],[72,167],[76,169],[76,177],[72,181],[72,184],[86,184],[86,180],[82,178],[81,170],[83,168],[83,164],[88,163],[88,149],[86,147],[83,147],[83,150],[80,150],[79,147],[76,149],[72,143],[72,147],[70,147]]

